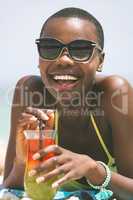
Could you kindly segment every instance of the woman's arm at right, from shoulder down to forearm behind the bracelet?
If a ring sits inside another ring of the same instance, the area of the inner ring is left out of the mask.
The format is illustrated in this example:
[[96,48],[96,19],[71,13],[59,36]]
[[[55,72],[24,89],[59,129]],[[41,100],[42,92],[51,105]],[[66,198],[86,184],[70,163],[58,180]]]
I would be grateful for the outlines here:
[[111,189],[121,199],[133,198],[133,89],[116,76],[105,80],[104,105],[112,127],[118,173],[112,174]]

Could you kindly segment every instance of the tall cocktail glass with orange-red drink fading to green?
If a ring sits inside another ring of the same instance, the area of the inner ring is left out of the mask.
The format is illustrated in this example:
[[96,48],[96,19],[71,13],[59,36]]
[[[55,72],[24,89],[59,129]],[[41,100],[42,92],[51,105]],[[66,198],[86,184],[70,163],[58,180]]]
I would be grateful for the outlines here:
[[54,115],[52,115],[52,117],[54,117],[54,120],[49,118],[43,130],[25,130],[24,132],[27,140],[24,188],[28,197],[32,200],[52,200],[56,193],[56,190],[52,188],[52,183],[57,177],[38,184],[36,178],[37,176],[41,176],[42,172],[37,176],[29,176],[30,170],[54,156],[53,153],[49,153],[39,160],[32,159],[33,154],[38,152],[40,149],[49,145],[57,144],[57,114],[56,111],[53,111],[53,113]]

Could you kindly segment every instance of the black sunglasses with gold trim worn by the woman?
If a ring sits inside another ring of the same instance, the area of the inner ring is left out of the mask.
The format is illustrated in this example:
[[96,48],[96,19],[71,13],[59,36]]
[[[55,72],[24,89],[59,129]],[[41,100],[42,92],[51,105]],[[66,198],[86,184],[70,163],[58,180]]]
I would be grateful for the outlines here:
[[36,40],[39,56],[45,60],[58,59],[63,50],[68,51],[69,56],[76,62],[85,62],[91,59],[94,49],[102,52],[100,46],[89,40],[74,40],[68,44],[63,44],[55,38],[40,38]]

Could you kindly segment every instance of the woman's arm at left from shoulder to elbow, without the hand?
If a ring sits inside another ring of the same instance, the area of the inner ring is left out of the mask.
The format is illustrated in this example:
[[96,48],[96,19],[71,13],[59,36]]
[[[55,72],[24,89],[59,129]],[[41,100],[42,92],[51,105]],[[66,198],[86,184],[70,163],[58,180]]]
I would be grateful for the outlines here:
[[[26,95],[29,95],[28,92],[33,92],[33,89],[35,91],[40,91],[39,88],[42,88],[40,85],[40,79],[35,76],[26,76],[16,85],[11,111],[11,132],[4,171],[3,184],[5,187],[23,187],[25,165],[24,163],[15,160],[17,126],[20,115],[25,111],[26,107],[30,105],[29,101],[27,102],[29,97]],[[34,99],[32,100],[34,101]]]

